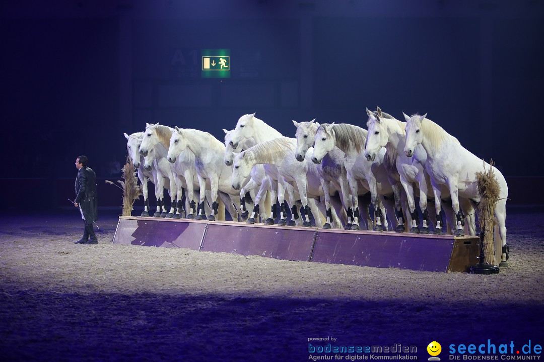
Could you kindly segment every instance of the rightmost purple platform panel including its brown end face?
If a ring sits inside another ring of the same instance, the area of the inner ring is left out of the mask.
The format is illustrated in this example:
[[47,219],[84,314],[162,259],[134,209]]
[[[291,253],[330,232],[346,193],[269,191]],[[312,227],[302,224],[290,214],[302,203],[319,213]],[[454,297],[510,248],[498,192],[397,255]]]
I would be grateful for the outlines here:
[[[473,257],[478,255],[478,242],[477,237],[319,229],[311,261],[376,268],[462,271],[469,263],[478,262]],[[452,256],[456,259],[452,260]]]

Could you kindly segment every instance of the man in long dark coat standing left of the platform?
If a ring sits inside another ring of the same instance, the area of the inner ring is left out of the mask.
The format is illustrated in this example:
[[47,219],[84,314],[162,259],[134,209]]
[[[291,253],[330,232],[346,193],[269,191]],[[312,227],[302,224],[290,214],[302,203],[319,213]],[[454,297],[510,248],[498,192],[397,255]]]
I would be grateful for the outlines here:
[[89,162],[86,156],[76,158],[76,200],[73,206],[79,207],[81,218],[85,225],[83,237],[75,244],[98,244],[92,223],[98,219],[98,200],[96,198],[96,175],[92,168],[87,167]]

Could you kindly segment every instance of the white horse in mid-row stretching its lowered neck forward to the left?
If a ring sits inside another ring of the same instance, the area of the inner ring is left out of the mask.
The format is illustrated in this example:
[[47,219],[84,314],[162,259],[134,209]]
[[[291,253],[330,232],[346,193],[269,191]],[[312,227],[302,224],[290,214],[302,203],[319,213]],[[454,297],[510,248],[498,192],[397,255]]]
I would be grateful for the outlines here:
[[[277,167],[281,177],[283,177],[283,181],[285,181],[283,185],[290,184],[295,186],[300,194],[300,200],[305,211],[305,221],[302,226],[310,227],[310,219],[314,216],[316,218],[316,226],[321,227],[323,223],[320,218],[319,209],[314,201],[315,198],[323,195],[323,188],[321,188],[317,168],[309,161],[304,163],[296,161],[294,157],[295,148],[296,139],[279,137],[256,144],[237,154],[234,157],[232,187],[239,188],[240,181],[249,175],[251,168],[255,164],[274,165]],[[278,184],[280,195],[282,194],[283,185],[281,183]],[[293,190],[288,189],[288,193],[290,201],[294,204]],[[282,220],[284,221],[286,211],[282,202],[281,213]],[[292,215],[296,217],[295,205],[292,207]]]

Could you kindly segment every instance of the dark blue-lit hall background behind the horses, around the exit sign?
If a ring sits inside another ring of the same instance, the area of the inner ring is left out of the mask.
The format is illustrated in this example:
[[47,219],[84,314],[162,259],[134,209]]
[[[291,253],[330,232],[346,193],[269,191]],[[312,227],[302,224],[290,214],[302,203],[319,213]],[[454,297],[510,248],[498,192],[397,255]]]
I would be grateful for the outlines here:
[[[543,15],[536,0],[2,1],[4,199],[58,206],[81,154],[119,176],[123,132],[146,122],[222,141],[257,112],[294,137],[292,119],[366,126],[380,106],[428,113],[523,203],[544,176]],[[231,50],[231,78],[200,77],[206,48]]]

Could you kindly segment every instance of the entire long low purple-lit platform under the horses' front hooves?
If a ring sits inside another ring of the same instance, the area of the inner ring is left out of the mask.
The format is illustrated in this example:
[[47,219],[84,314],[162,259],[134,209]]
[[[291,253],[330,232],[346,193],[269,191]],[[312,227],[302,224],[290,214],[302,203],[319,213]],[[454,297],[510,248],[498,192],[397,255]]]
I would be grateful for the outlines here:
[[124,216],[113,243],[441,272],[466,271],[480,255],[479,238],[470,236]]

